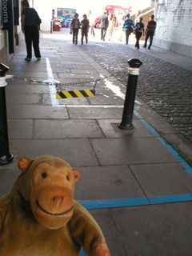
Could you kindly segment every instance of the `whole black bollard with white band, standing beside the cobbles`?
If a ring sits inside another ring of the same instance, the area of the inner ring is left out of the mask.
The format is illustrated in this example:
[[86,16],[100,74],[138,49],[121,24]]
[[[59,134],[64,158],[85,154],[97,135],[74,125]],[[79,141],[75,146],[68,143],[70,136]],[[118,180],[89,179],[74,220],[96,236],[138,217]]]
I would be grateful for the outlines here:
[[127,63],[129,64],[130,68],[126,87],[126,98],[122,113],[122,122],[118,125],[118,128],[122,130],[134,130],[134,125],[132,124],[134,100],[137,89],[139,67],[142,65],[142,62],[138,58],[132,58],[128,60]]

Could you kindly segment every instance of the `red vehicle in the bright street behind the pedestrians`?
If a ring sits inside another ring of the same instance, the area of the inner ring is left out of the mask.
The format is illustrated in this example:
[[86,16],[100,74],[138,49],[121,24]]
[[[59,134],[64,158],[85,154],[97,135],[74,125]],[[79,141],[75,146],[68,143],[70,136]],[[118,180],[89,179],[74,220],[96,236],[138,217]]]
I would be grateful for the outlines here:
[[[110,14],[117,15],[119,13],[122,13],[122,14],[126,15],[126,14],[130,13],[131,6],[129,8],[126,8],[126,7],[122,7],[122,6],[111,6],[111,5],[109,5],[109,6],[106,6],[105,10],[106,10],[107,15],[110,15]],[[99,27],[100,23],[101,23],[101,18],[100,17],[95,18],[94,27],[99,29],[100,28]],[[116,24],[116,26],[118,26],[118,23]]]

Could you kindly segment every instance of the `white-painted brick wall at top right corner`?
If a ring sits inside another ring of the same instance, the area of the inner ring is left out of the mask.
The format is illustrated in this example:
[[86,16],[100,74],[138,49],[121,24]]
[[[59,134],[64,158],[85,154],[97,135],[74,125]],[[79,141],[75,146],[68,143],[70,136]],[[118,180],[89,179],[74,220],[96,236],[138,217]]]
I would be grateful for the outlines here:
[[192,57],[192,1],[156,0],[154,46]]

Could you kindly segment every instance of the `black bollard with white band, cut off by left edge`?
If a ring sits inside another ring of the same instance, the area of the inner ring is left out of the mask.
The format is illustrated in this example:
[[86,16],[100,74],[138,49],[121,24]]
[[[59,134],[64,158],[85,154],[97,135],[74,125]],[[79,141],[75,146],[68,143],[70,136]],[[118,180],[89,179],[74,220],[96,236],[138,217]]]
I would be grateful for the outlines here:
[[0,64],[0,165],[10,163],[14,156],[10,154],[6,118],[6,72],[9,67]]

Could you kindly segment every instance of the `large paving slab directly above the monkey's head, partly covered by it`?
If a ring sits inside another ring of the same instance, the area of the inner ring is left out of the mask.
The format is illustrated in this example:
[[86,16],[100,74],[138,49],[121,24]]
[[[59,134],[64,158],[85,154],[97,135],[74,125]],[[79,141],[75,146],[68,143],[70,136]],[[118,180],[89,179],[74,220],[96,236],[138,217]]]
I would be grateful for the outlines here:
[[54,155],[69,162],[70,166],[98,166],[98,160],[86,138],[76,139],[10,139],[10,152],[14,162],[23,156],[36,158],[42,154]]

